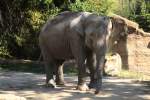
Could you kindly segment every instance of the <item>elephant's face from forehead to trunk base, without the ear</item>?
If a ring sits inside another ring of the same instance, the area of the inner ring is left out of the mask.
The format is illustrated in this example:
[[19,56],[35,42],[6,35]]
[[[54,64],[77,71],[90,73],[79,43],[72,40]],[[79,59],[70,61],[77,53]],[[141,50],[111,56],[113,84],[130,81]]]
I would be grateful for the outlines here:
[[112,23],[110,18],[106,16],[90,16],[87,20],[85,44],[89,48],[96,50],[108,41],[112,30]]

